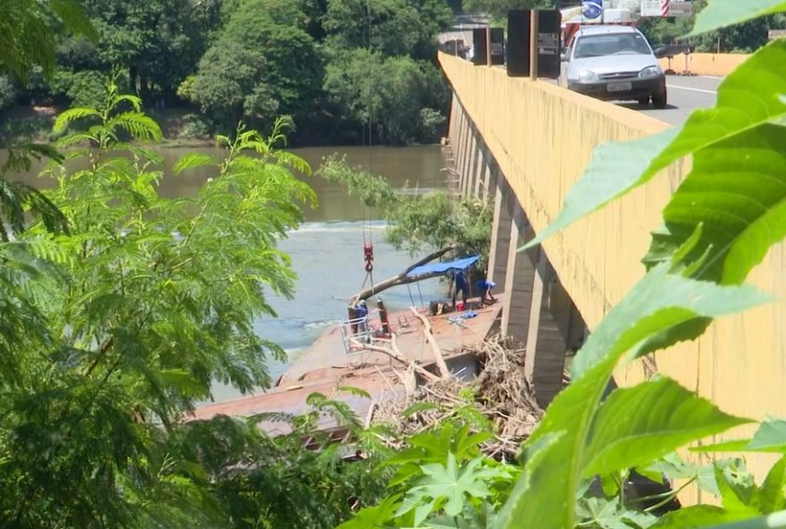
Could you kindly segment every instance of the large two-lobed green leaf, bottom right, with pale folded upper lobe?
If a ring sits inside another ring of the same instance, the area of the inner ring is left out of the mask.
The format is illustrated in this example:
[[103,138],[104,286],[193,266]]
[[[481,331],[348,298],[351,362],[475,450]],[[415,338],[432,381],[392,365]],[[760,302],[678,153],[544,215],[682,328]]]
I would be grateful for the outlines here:
[[[732,314],[767,299],[748,287],[693,281],[669,269],[663,264],[650,271],[581,348],[573,382],[557,395],[526,444],[528,460],[499,517],[500,529],[573,527],[582,479],[652,461],[711,431],[746,422],[668,380],[619,390],[598,407],[615,366],[628,351],[635,356],[648,338],[696,317]],[[651,407],[639,417],[644,401]]]

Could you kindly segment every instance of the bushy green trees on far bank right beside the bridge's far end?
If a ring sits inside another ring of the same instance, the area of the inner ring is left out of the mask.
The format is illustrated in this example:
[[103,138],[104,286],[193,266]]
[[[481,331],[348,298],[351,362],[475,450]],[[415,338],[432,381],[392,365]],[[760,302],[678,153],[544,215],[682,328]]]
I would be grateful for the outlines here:
[[435,36],[451,21],[443,0],[331,0],[324,88],[347,139],[439,140],[449,90],[434,61]]

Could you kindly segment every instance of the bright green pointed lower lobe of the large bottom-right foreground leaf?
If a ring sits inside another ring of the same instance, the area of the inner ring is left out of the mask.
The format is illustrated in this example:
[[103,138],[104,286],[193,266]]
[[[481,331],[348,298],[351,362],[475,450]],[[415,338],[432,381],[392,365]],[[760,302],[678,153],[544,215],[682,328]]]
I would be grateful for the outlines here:
[[748,422],[668,378],[615,390],[598,409],[583,476],[645,465],[690,441]]

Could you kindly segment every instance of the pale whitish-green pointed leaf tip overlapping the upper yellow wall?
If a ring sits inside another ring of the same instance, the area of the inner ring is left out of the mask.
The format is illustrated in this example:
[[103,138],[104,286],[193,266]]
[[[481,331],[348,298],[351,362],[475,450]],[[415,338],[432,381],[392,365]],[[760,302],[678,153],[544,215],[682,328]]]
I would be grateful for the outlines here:
[[647,138],[605,143],[596,148],[581,179],[568,191],[556,220],[520,249],[538,245],[581,217],[646,183],[655,175],[655,172],[647,172],[648,167],[679,132],[679,129],[669,129]]

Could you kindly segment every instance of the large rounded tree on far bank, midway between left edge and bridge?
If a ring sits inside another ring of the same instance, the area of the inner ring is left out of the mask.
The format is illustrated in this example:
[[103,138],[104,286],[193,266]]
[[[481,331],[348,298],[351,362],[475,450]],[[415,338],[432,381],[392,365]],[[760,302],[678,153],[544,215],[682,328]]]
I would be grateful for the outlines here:
[[288,115],[307,126],[316,112],[322,57],[305,31],[305,13],[287,0],[247,0],[231,14],[199,63],[193,97],[205,117],[227,130]]

